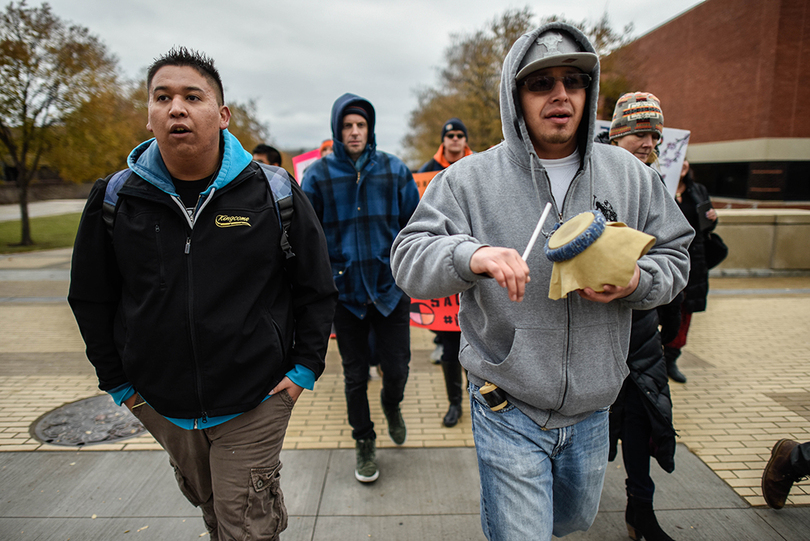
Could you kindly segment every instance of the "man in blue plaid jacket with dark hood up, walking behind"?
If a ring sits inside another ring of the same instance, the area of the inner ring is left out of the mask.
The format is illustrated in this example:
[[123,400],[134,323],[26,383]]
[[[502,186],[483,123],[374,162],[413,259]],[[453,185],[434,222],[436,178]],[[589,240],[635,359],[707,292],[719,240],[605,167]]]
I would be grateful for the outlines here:
[[334,152],[307,168],[301,182],[323,225],[340,295],[335,331],[356,441],[355,477],[363,483],[379,476],[367,394],[372,354],[383,373],[388,435],[397,445],[407,437],[399,404],[411,358],[410,299],[394,283],[390,251],[419,202],[410,170],[377,150],[374,121],[368,100],[339,97],[332,106]]

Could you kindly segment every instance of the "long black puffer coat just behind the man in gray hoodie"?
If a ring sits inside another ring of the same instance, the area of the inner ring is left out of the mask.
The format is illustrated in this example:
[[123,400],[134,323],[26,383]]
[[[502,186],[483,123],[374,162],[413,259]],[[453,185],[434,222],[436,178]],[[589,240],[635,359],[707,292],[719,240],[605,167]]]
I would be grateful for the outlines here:
[[658,321],[657,310],[633,310],[633,330],[627,357],[630,375],[610,409],[608,458],[616,458],[617,442],[624,422],[624,395],[629,385],[635,385],[645,399],[644,406],[650,419],[650,454],[664,471],[672,473],[675,469],[675,429],[672,427],[672,398]]

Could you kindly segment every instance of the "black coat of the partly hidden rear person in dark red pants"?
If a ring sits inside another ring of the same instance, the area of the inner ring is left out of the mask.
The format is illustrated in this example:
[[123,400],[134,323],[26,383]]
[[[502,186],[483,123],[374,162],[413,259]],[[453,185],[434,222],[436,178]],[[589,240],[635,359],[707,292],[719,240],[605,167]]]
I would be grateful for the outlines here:
[[678,207],[689,221],[689,225],[695,230],[695,238],[689,246],[691,267],[689,270],[689,282],[686,284],[686,289],[684,289],[686,299],[681,309],[690,313],[703,312],[706,310],[706,296],[709,294],[709,269],[706,266],[705,248],[706,233],[717,226],[717,220],[712,223],[707,231],[700,232],[697,206],[704,201],[709,201],[709,191],[705,186],[692,179],[691,171],[687,173],[683,181],[686,189],[681,194]]

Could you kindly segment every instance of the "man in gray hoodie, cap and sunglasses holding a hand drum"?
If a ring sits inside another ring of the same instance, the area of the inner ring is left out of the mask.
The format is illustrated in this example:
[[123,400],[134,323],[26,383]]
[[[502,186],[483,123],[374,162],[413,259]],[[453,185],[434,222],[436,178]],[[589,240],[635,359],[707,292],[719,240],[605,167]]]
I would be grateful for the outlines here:
[[[459,361],[490,540],[591,525],[607,412],[628,372],[631,310],[669,302],[689,273],[693,231],[658,174],[592,143],[598,82],[598,57],[576,28],[551,23],[518,39],[501,76],[505,140],[439,173],[392,247],[394,277],[409,295],[461,292]],[[547,202],[560,222],[598,209],[656,243],[627,286],[552,301],[552,262],[539,247],[527,261],[520,255]],[[485,382],[505,407],[488,405]]]

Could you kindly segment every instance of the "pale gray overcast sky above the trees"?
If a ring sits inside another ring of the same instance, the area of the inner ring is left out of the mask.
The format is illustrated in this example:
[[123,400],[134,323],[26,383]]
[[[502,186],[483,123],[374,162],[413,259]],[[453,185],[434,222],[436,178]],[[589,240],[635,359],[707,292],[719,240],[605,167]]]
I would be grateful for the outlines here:
[[[90,29],[140,77],[173,45],[213,57],[225,99],[255,99],[281,149],[316,148],[331,137],[332,103],[344,92],[377,112],[378,148],[399,154],[415,90],[433,86],[453,34],[484,29],[509,8],[537,20],[598,20],[607,11],[638,37],[699,0],[50,0],[60,18]],[[29,0],[29,6],[39,5]],[[564,6],[564,7],[563,7]],[[145,120],[144,120],[145,121]],[[473,134],[471,134],[473,135]],[[438,138],[437,138],[438,139]]]

